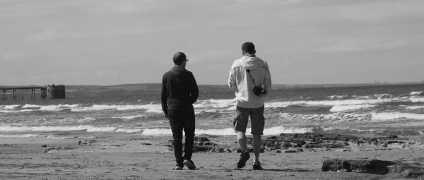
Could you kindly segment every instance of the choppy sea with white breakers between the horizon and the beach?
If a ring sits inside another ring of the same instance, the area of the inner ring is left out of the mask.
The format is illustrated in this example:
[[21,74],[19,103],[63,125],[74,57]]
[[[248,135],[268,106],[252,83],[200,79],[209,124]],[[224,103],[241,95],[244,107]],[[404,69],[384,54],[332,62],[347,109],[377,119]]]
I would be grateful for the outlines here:
[[[24,98],[28,92],[18,92],[18,100],[9,95],[0,100],[0,138],[172,136],[161,109],[160,85],[128,87],[66,86],[66,98],[54,100]],[[235,135],[234,92],[225,85],[199,89],[196,135]],[[264,106],[265,136],[424,136],[424,84],[274,85]]]

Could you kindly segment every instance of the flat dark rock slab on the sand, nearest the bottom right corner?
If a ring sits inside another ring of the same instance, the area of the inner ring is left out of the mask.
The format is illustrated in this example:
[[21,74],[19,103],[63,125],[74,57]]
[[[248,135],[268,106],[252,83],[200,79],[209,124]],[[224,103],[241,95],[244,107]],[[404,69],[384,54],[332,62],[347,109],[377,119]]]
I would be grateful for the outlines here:
[[382,160],[325,160],[323,172],[360,172],[369,174],[387,174],[389,176],[418,178],[424,177],[424,158],[406,162],[391,162]]

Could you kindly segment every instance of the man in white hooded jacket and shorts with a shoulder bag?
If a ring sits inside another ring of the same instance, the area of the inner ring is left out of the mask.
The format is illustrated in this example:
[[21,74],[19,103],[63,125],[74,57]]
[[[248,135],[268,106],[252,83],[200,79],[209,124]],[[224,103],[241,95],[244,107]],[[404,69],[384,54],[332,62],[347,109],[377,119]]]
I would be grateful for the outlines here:
[[[266,61],[256,55],[256,49],[252,42],[242,44],[242,58],[232,63],[228,87],[235,90],[237,101],[237,117],[233,125],[237,133],[237,141],[242,149],[238,168],[245,167],[250,155],[247,151],[246,128],[250,116],[254,160],[253,169],[262,169],[259,162],[261,150],[261,135],[264,134],[264,101],[266,93],[271,89],[271,73]],[[254,87],[257,87],[254,92]]]

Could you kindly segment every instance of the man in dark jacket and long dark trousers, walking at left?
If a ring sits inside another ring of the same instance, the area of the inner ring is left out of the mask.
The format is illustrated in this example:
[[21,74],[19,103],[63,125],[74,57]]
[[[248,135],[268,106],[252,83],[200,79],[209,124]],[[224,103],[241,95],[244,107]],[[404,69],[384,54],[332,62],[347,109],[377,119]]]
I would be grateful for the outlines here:
[[[174,169],[196,169],[192,161],[195,116],[193,103],[199,97],[199,88],[193,73],[187,71],[187,56],[177,52],[172,58],[175,66],[163,75],[162,79],[162,109],[170,121],[172,137],[174,138],[175,160]],[[184,156],[182,155],[182,131],[186,139]]]

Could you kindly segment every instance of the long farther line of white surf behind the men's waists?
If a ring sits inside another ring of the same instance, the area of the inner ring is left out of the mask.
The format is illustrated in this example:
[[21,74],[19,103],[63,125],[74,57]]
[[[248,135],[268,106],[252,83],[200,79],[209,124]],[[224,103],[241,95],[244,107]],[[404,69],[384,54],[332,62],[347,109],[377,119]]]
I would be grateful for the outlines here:
[[[350,95],[334,95],[330,96],[331,100],[301,100],[301,101],[283,101],[283,102],[266,102],[266,108],[272,107],[331,107],[330,112],[343,112],[351,110],[369,109],[379,104],[391,102],[424,102],[424,97],[418,97],[420,92],[411,92],[410,97],[394,97],[394,95],[380,94],[364,97]],[[235,99],[210,99],[199,100],[194,104],[197,111],[218,111],[228,112],[235,110]],[[127,111],[142,109],[146,113],[159,114],[163,113],[161,104],[24,104],[24,105],[0,105],[1,113],[18,113],[18,112],[58,112],[68,109],[71,112],[96,112],[96,111]]]

